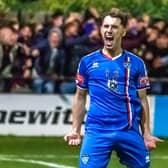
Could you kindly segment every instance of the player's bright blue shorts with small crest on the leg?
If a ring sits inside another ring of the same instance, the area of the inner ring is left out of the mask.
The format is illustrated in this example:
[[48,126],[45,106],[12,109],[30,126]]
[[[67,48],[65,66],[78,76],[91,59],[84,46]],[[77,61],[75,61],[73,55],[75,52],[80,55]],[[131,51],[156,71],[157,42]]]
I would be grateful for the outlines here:
[[86,130],[80,152],[80,168],[106,168],[112,151],[129,168],[149,168],[150,157],[142,136],[124,131]]

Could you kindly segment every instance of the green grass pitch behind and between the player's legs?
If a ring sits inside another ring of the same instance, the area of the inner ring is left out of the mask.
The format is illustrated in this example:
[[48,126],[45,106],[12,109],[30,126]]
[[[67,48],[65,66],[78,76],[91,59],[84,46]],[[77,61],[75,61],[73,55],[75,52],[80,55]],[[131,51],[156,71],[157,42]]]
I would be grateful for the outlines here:
[[[80,147],[68,146],[62,137],[0,136],[0,168],[52,168],[44,165],[46,162],[54,163],[58,168],[61,165],[77,168],[79,150]],[[159,144],[151,156],[151,168],[167,168],[168,140]],[[108,168],[124,166],[118,163],[114,154]]]

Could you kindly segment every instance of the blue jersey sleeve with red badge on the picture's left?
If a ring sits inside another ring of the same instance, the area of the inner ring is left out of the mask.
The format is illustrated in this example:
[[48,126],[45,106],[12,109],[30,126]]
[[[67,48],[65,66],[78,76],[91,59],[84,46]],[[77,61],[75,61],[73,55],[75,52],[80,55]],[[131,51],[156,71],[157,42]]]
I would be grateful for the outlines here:
[[76,74],[76,85],[81,89],[88,88],[88,75],[87,75],[87,67],[84,59],[80,60],[78,65],[78,70]]

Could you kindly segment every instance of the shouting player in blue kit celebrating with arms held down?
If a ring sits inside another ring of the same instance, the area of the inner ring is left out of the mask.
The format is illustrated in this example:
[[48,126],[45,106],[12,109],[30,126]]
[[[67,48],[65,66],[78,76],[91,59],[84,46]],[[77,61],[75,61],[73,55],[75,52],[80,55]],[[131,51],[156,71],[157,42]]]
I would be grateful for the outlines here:
[[[77,73],[69,145],[81,143],[87,92],[90,106],[80,153],[80,168],[105,168],[113,150],[128,168],[149,168],[149,150],[160,139],[151,135],[149,88],[144,62],[121,47],[127,14],[112,9],[102,18],[102,50],[83,57]],[[139,131],[141,126],[141,132]]]

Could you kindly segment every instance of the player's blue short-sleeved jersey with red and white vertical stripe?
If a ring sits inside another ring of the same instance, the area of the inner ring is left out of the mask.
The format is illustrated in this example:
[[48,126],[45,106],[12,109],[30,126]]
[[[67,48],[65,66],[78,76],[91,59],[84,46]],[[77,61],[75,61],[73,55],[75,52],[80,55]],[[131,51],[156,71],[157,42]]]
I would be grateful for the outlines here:
[[109,58],[98,50],[81,59],[76,81],[90,95],[86,128],[138,129],[141,102],[137,90],[149,87],[141,58],[128,51]]

